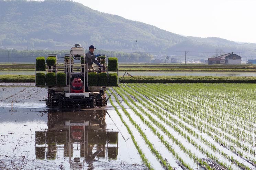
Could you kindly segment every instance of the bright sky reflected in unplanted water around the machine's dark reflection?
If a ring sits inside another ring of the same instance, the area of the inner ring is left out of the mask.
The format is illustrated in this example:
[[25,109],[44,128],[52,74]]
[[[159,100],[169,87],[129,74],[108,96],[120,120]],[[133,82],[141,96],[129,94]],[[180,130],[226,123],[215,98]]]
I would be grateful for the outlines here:
[[[51,148],[47,146],[47,144],[38,145],[35,143],[36,132],[44,132],[48,131],[49,125],[47,124],[48,113],[45,113],[45,109],[40,109],[43,112],[39,112],[36,109],[28,107],[21,108],[13,108],[14,111],[10,111],[10,106],[1,107],[0,109],[0,145],[4,145],[1,149],[1,155],[7,155],[11,158],[17,158],[17,160],[21,156],[26,156],[26,159],[35,160],[36,162],[31,162],[31,165],[26,165],[27,167],[34,167],[34,163],[42,164],[46,163],[48,169],[54,169],[58,165],[62,164],[64,169],[70,169],[69,165],[69,157],[64,156],[64,145],[57,144],[56,146],[52,146]],[[125,127],[122,125],[121,121],[118,121],[118,117],[116,117],[116,113],[113,110],[108,110],[109,114],[113,116],[114,121],[116,121],[116,125],[119,127],[120,131],[122,131],[124,137],[126,139],[129,138],[129,135],[125,133]],[[79,113],[82,115],[82,112]],[[111,129],[111,131],[117,131],[117,128],[108,114],[105,115],[105,123],[106,128]],[[47,140],[47,139],[46,139]],[[128,162],[129,164],[136,163],[140,165],[141,158],[137,154],[137,150],[134,147],[132,140],[128,140],[125,143],[121,134],[118,133],[118,155],[117,160]],[[109,147],[115,146],[117,144],[109,144]],[[73,156],[71,156],[71,160],[80,158],[80,147],[81,144],[73,143]],[[107,145],[106,145],[107,146]],[[45,148],[46,157],[42,159],[36,159],[36,147]],[[116,147],[116,146],[115,146]],[[79,150],[77,150],[77,148]],[[129,148],[129,149],[128,149]],[[54,155],[55,159],[47,159],[47,150],[54,149],[57,150],[56,155]],[[93,152],[97,151],[97,146],[93,146]],[[107,152],[106,152],[107,154]],[[130,156],[128,156],[130,155]],[[107,155],[106,155],[107,156]],[[105,158],[95,157],[96,160],[101,162],[109,161]],[[81,163],[83,163],[83,158],[81,157]],[[111,160],[110,160],[111,161]],[[113,160],[115,162],[115,160]],[[111,163],[111,162],[110,162]],[[52,166],[52,168],[51,168]],[[85,167],[87,164],[85,163]],[[71,168],[72,169],[72,168]]]

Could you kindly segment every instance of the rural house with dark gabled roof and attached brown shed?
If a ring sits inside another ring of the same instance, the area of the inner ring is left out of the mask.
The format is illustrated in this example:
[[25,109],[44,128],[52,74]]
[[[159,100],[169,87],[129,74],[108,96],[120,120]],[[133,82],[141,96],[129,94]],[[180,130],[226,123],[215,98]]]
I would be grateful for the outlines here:
[[[213,58],[208,58],[208,64],[212,65],[212,64],[241,64],[241,58],[240,56],[238,56],[237,54],[232,53],[228,53],[228,54],[224,54],[221,56],[217,56]],[[217,59],[219,58],[219,59]]]

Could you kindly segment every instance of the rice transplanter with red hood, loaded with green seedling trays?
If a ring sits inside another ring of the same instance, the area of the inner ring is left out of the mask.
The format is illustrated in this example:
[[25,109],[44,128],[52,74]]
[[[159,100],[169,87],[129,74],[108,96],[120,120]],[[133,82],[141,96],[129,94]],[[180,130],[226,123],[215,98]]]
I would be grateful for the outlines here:
[[101,55],[103,67],[88,69],[85,48],[75,44],[64,62],[56,54],[36,58],[36,86],[48,90],[48,106],[94,108],[107,105],[106,90],[118,86],[117,58]]

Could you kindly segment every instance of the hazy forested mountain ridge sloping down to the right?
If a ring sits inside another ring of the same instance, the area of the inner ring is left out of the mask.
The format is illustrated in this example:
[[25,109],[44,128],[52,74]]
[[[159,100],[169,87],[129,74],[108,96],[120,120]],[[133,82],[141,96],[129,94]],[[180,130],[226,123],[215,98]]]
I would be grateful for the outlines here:
[[256,44],[252,43],[181,36],[73,1],[0,0],[0,47],[61,49],[75,43],[129,52],[220,50],[254,53],[256,49]]

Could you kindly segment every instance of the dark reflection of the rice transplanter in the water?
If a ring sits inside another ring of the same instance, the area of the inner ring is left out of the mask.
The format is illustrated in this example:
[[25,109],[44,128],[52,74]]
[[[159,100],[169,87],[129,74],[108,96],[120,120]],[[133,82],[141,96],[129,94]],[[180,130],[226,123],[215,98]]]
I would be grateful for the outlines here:
[[63,157],[69,157],[71,168],[75,169],[80,169],[85,162],[92,166],[96,157],[116,159],[118,132],[106,129],[106,112],[107,110],[50,111],[48,129],[35,132],[36,158],[56,159],[57,156],[62,157],[63,153]]

